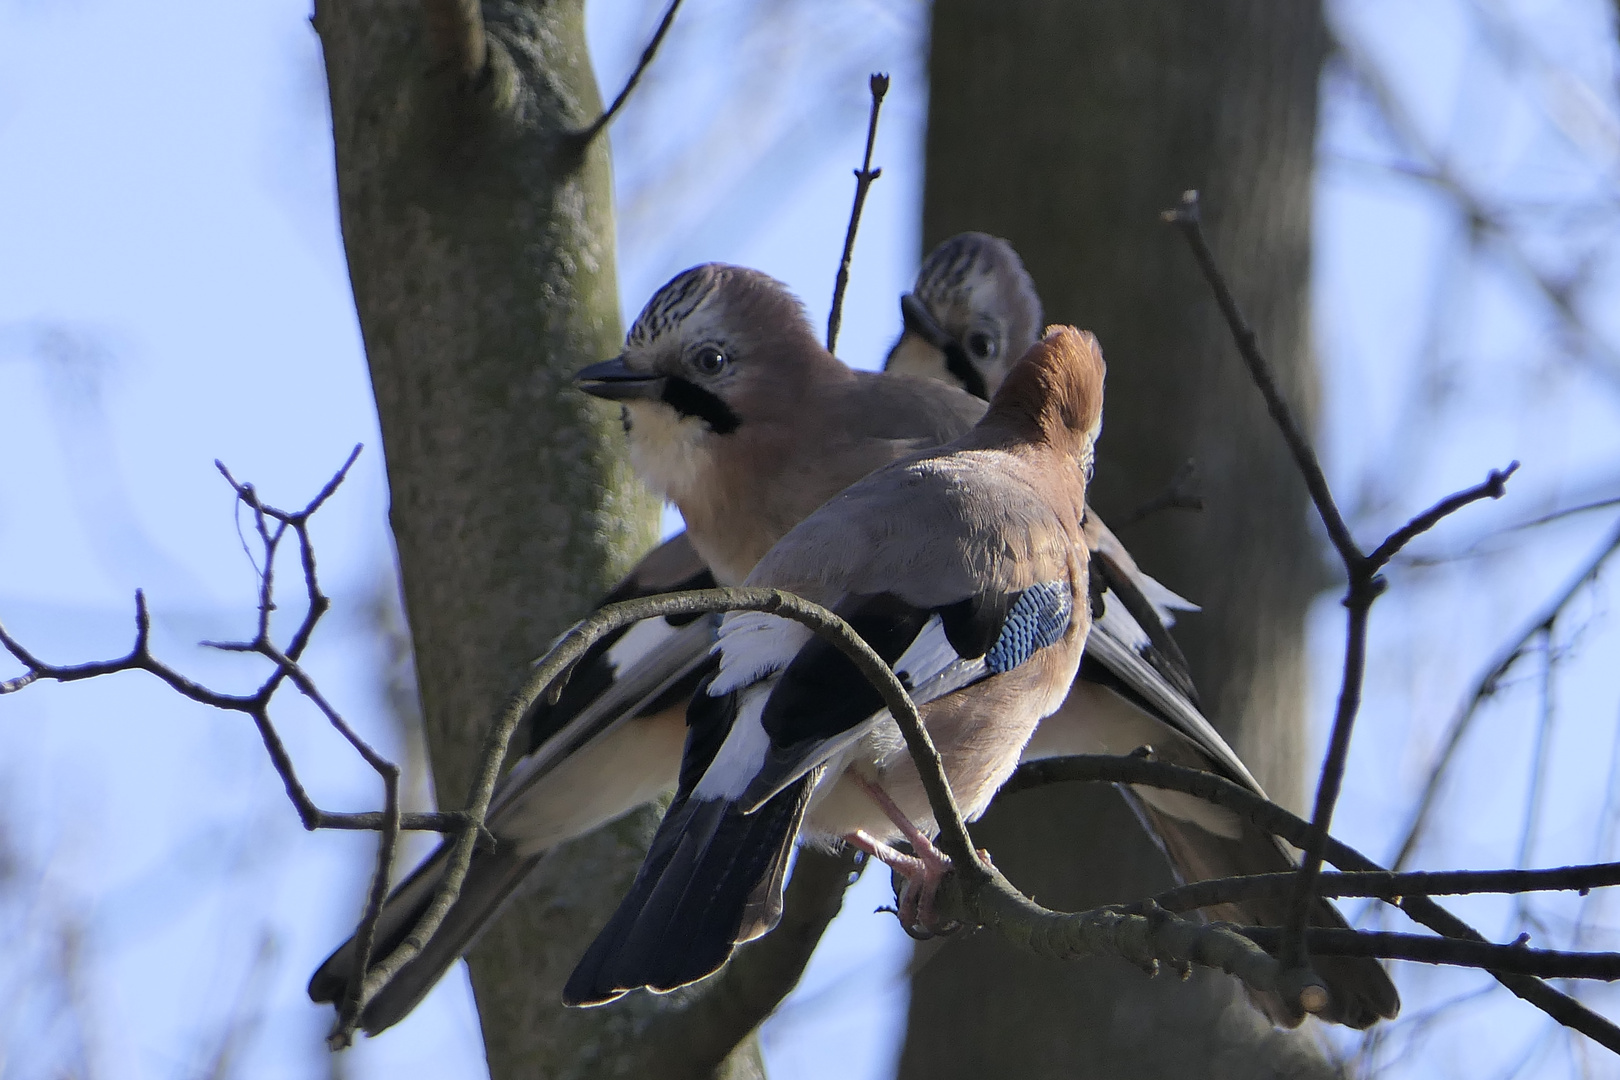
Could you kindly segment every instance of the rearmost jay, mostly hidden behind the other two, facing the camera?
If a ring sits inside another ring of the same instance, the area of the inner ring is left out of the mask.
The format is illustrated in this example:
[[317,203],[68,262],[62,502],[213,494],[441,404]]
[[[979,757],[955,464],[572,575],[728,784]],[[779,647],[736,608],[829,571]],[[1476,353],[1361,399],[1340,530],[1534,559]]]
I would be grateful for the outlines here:
[[[1042,321],[1040,298],[1017,253],[985,233],[961,233],[935,248],[912,293],[901,298],[901,313],[904,332],[889,351],[889,371],[956,381],[977,376],[990,392],[1006,371],[1004,358],[1021,353]],[[1042,721],[1024,759],[1150,748],[1160,761],[1217,772],[1264,795],[1199,711],[1186,659],[1166,631],[1176,610],[1194,606],[1144,575],[1090,508],[1085,534],[1094,589],[1100,593],[1092,609],[1095,622],[1074,688]],[[1294,868],[1293,857],[1273,836],[1231,811],[1149,787],[1121,793],[1181,881]],[[1280,926],[1286,899],[1252,899],[1207,913],[1249,926]],[[1328,900],[1317,900],[1311,921],[1346,925]],[[1312,957],[1312,965],[1332,994],[1324,1020],[1366,1028],[1400,1012],[1400,996],[1377,960]],[[1298,1025],[1304,1018],[1293,1001],[1275,994],[1252,997],[1278,1023]]]

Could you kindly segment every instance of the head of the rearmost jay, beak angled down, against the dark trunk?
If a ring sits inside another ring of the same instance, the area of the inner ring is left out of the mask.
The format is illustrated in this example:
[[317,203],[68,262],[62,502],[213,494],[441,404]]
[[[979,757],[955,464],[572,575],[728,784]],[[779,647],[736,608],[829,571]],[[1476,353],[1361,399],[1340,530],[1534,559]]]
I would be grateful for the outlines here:
[[923,259],[915,288],[901,296],[901,319],[886,371],[988,398],[1040,335],[1040,296],[1013,244],[959,233]]

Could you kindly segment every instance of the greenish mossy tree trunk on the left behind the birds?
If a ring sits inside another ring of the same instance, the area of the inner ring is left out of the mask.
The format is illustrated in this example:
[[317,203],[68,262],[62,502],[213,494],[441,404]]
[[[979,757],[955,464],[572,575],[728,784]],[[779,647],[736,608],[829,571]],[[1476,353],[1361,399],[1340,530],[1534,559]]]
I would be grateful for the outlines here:
[[[470,8],[470,10],[468,10]],[[569,376],[620,347],[608,141],[583,0],[321,0],[343,241],[376,390],[434,789],[467,798],[530,661],[656,539],[611,410]],[[561,986],[650,811],[569,845],[471,954],[489,1070],[612,1072],[642,1006]]]

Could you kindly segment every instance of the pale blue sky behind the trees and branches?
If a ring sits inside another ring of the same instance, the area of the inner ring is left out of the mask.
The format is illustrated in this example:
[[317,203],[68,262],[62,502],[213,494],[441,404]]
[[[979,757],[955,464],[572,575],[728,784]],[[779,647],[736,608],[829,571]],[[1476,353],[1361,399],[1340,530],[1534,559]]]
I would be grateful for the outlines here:
[[[659,6],[591,5],[609,92]],[[1494,206],[1615,201],[1609,5],[1366,0],[1333,13]],[[1521,28],[1510,49],[1481,29],[1498,13]],[[212,461],[272,502],[301,504],[363,442],[316,525],[335,607],[309,664],[356,727],[408,759],[420,751],[390,719],[373,615],[392,581],[386,486],[306,18],[295,0],[0,6],[0,619],[47,657],[112,656],[128,646],[131,594],[144,586],[165,656],[211,683],[249,685],[251,664],[196,648],[241,635],[253,610],[253,570]],[[727,259],[786,280],[825,322],[865,73],[889,70],[885,173],[839,350],[875,366],[919,257],[927,10],[782,5],[776,18],[742,3],[684,11],[616,126],[625,313],[680,267]],[[716,55],[750,60],[723,74]],[[739,83],[750,87],[748,123],[705,128],[700,118],[737,108]],[[1601,351],[1568,345],[1510,246],[1468,244],[1455,199],[1409,175],[1351,79],[1330,71],[1325,89],[1320,445],[1358,533],[1379,536],[1508,458],[1524,461],[1511,497],[1471,510],[1421,552],[1455,554],[1494,525],[1620,492],[1620,397],[1599,374]],[[726,168],[713,165],[716,152]],[[1573,230],[1523,220],[1515,243],[1539,266],[1594,251],[1583,311],[1609,340],[1620,337],[1615,304],[1604,303],[1612,215]],[[1609,528],[1612,513],[1584,515],[1523,542],[1490,541],[1484,557],[1392,575],[1338,816],[1346,840],[1390,852],[1469,680]],[[1591,858],[1601,832],[1620,712],[1620,640],[1605,614],[1597,589],[1555,638],[1554,782],[1531,848],[1537,865]],[[1340,623],[1324,597],[1312,619],[1319,732],[1336,688]],[[1539,688],[1533,662],[1482,716],[1422,865],[1515,860]],[[321,805],[376,803],[374,779],[319,717],[288,698],[279,719]],[[232,1015],[245,1017],[237,1075],[324,1074],[326,1015],[303,999],[303,981],[353,918],[369,852],[366,837],[298,827],[246,721],[152,680],[42,685],[0,699],[0,855],[10,860],[0,863],[18,868],[0,874],[0,949],[18,957],[10,975],[0,970],[0,1075],[73,1061],[100,1077],[199,1070]],[[878,882],[862,889],[765,1031],[774,1077],[893,1067],[906,942],[893,920],[870,915]],[[1568,931],[1571,904],[1536,908],[1552,939]],[[1456,908],[1487,934],[1516,933],[1511,904]],[[76,950],[73,984],[29,980],[62,942]],[[1400,980],[1409,1012],[1482,984],[1414,968]],[[63,1009],[65,993],[75,1009]],[[1392,1043],[1388,1075],[1507,1074],[1542,1028],[1495,994],[1445,1014],[1429,1038],[1408,1057]],[[1539,1075],[1580,1075],[1578,1044],[1549,1046]],[[1592,1064],[1594,1075],[1615,1074]],[[343,1069],[368,1077],[407,1065],[483,1075],[465,976],[363,1041]]]

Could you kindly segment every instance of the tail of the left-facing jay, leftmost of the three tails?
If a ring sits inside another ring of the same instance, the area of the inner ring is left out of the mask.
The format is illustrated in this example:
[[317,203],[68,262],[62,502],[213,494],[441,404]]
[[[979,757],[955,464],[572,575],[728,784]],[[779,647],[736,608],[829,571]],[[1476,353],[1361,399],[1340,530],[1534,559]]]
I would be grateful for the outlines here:
[[[373,960],[389,955],[433,902],[433,894],[444,879],[449,853],[450,845],[441,845],[387,899],[377,920],[377,934],[371,947]],[[512,899],[543,855],[544,852],[518,855],[505,844],[475,850],[462,882],[462,892],[446,912],[439,931],[416,959],[400,968],[399,975],[371,999],[360,1017],[361,1030],[366,1035],[376,1035],[403,1020],[462,954],[473,947],[478,934],[494,921],[496,913]],[[309,980],[311,1001],[335,1006],[343,999],[355,973],[355,939],[350,938],[316,968]]]

